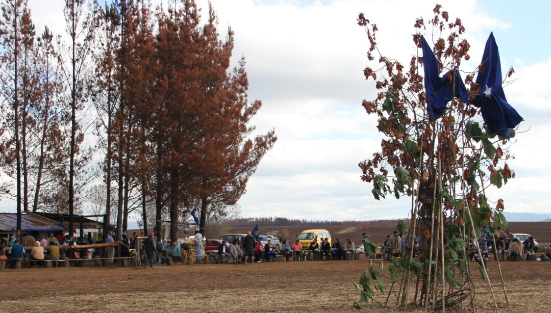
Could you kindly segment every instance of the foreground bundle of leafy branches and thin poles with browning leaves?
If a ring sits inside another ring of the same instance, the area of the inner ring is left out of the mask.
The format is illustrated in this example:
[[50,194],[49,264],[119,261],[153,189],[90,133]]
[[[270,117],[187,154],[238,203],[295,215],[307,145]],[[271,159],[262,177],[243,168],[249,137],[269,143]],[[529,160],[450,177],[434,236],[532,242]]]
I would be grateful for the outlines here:
[[[402,63],[380,54],[375,24],[364,14],[359,15],[358,24],[368,35],[369,60],[380,63],[380,70],[364,70],[366,79],[375,80],[379,93],[373,101],[364,100],[363,107],[379,118],[377,130],[383,136],[381,151],[359,163],[361,179],[373,185],[376,199],[387,194],[412,199],[409,233],[413,235],[407,237],[405,252],[393,258],[389,266],[392,284],[385,305],[391,301],[392,306],[399,307],[414,304],[437,310],[467,306],[474,309],[472,277],[478,270],[487,281],[495,304],[483,263],[473,269],[469,262],[469,244],[477,245],[482,226],[495,232],[495,227],[506,225],[503,200],[492,205],[485,190],[490,186],[500,188],[514,177],[507,165],[510,141],[492,133],[478,109],[460,98],[451,99],[442,117],[430,118],[420,67],[422,35],[431,34],[427,37],[434,44],[440,72],[449,70],[445,79],[455,86],[460,79],[457,69],[470,58],[469,43],[463,38],[465,28],[460,19],[450,19],[449,13],[436,6],[428,23],[422,18],[415,21],[413,42],[419,52],[408,62],[409,68],[404,68]],[[480,86],[473,81],[477,70],[467,72],[464,80],[468,102],[480,94]],[[457,91],[455,88],[452,87],[452,94]],[[403,223],[398,228],[406,232]],[[474,253],[482,259],[479,250]],[[360,302],[373,299],[374,290],[385,290],[380,272],[374,267],[362,274],[356,287]],[[358,303],[355,305],[359,307]]]

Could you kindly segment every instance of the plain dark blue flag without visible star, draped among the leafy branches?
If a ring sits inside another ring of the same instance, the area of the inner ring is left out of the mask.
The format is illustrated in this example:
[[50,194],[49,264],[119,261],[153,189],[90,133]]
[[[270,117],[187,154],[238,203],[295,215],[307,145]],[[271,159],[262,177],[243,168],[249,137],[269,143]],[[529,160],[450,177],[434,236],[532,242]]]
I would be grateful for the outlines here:
[[[444,114],[446,105],[453,97],[468,103],[469,94],[458,70],[450,70],[440,77],[440,66],[433,50],[421,36],[423,48],[423,69],[425,71],[426,110],[429,119],[435,120]],[[454,83],[455,82],[455,83]]]

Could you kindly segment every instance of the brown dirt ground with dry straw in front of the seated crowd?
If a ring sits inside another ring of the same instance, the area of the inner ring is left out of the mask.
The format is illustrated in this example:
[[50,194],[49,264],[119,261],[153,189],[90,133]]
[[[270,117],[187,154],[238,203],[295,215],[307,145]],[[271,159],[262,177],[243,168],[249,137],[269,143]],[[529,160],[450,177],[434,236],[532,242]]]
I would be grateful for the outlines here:
[[[255,265],[173,265],[31,268],[0,271],[0,312],[356,312],[352,279],[359,261],[304,261]],[[383,281],[388,284],[387,263]],[[501,262],[507,306],[496,262],[488,271],[500,312],[544,312],[551,305],[551,262]],[[477,312],[493,311],[488,284],[474,276]],[[384,302],[385,295],[376,300]],[[393,303],[391,300],[389,303]],[[379,304],[361,312],[395,312]],[[409,310],[419,311],[423,310]],[[446,310],[448,311],[448,310]],[[451,310],[450,310],[451,311]]]

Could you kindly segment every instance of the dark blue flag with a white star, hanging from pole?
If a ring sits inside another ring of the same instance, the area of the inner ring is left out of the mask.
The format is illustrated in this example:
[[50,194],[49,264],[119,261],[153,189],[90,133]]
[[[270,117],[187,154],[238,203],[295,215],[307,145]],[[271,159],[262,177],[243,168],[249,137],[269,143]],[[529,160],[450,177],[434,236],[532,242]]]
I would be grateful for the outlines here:
[[490,32],[476,80],[480,86],[480,94],[476,96],[473,104],[481,108],[482,118],[491,134],[509,138],[511,128],[515,128],[523,119],[507,103],[502,82],[498,45],[495,43],[493,32]]

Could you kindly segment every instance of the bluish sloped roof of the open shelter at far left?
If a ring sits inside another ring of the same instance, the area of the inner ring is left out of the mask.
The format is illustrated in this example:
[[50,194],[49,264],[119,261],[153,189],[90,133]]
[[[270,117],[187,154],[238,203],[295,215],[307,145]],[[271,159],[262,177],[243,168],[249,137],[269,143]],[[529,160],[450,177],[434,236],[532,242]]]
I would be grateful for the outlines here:
[[[0,213],[0,232],[10,232],[17,228],[17,213]],[[40,230],[64,230],[60,223],[33,213],[21,213],[21,230],[37,232]]]

